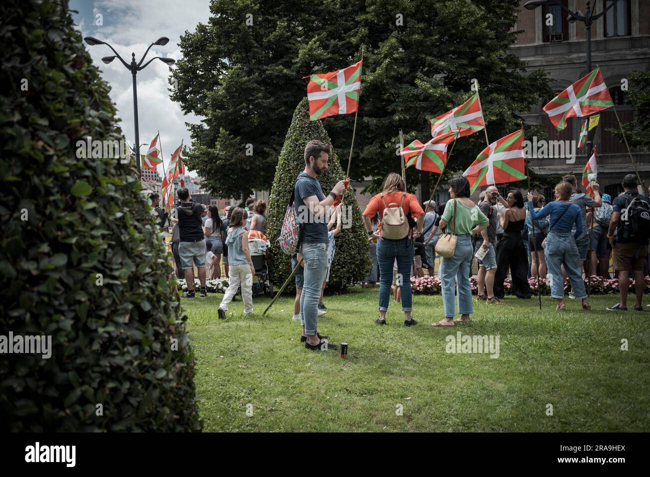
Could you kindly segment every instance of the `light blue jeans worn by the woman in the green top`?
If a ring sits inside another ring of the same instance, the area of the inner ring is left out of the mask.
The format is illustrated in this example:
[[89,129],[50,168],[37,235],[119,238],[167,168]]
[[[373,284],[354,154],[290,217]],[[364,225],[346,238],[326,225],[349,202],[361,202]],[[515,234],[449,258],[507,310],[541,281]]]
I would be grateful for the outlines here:
[[458,281],[458,313],[461,315],[471,315],[474,312],[472,305],[472,285],[469,281],[469,266],[472,263],[474,249],[472,247],[472,237],[469,234],[456,235],[456,250],[454,256],[446,259],[442,258],[440,270],[443,287],[443,305],[445,306],[445,316],[453,318],[455,313],[454,290],[456,290],[456,281]]

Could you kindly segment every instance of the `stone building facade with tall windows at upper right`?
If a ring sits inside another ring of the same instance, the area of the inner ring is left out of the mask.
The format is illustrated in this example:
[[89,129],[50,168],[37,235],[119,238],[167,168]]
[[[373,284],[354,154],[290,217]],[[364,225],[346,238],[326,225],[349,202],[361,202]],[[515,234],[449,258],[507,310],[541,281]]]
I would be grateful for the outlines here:
[[[511,51],[528,62],[528,71],[538,68],[548,71],[552,78],[551,87],[558,93],[588,73],[584,23],[569,23],[567,14],[557,6],[544,5],[535,10],[526,10],[526,1],[521,0],[517,24],[513,27],[521,33]],[[580,10],[584,14],[586,11],[586,0],[562,1],[573,12]],[[599,13],[609,3],[610,0],[594,0],[591,7],[595,13]],[[549,15],[553,19],[552,26],[546,24]],[[605,16],[591,25],[591,65],[592,69],[596,66],[601,68],[621,122],[633,121],[634,109],[626,103],[627,93],[621,86],[632,71],[650,69],[650,1],[619,0]],[[634,88],[634,84],[630,83],[629,88]],[[526,123],[545,125],[548,140],[575,140],[577,144],[582,118],[569,119],[566,129],[556,133],[548,115],[541,109],[549,99],[545,98],[536,108],[523,114]],[[621,191],[619,183],[623,175],[634,172],[625,144],[607,131],[608,128],[618,127],[612,108],[603,110],[594,139],[598,181],[601,190],[612,197]],[[532,159],[530,165],[538,174],[576,174],[579,179],[587,162],[587,154],[586,148],[582,148],[577,149],[573,163],[569,163],[567,157],[559,157]],[[632,150],[632,158],[642,179],[650,184],[650,153]],[[547,200],[551,198],[550,188],[543,192]]]

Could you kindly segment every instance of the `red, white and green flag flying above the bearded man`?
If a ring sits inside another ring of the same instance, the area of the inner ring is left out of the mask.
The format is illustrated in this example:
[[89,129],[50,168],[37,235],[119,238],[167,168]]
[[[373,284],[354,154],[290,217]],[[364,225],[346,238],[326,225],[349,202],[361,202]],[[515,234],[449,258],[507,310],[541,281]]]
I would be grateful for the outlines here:
[[343,70],[309,77],[309,119],[315,121],[337,114],[350,114],[359,109],[362,64],[363,60]]

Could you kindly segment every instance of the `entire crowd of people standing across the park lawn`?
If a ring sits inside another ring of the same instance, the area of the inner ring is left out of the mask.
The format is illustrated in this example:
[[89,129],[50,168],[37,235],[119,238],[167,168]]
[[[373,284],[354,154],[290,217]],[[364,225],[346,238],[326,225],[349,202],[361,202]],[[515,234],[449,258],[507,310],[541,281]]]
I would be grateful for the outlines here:
[[[305,146],[305,169],[294,183],[294,205],[301,219],[300,245],[292,256],[296,268],[296,298],[293,319],[302,325],[301,342],[310,350],[333,350],[337,345],[318,333],[318,317],[326,313],[323,295],[335,253],[335,237],[341,231],[341,205],[332,207],[345,190],[339,181],[325,195],[318,176],[328,170],[330,146],[311,140]],[[480,194],[478,203],[470,198],[469,181],[462,175],[448,182],[449,200],[436,211],[434,201],[422,205],[406,192],[400,175],[387,175],[383,190],[370,199],[363,218],[369,234],[370,273],[362,285],[379,282],[376,324],[385,325],[391,289],[402,306],[404,325],[414,326],[411,276],[423,269],[434,274],[439,257],[444,316],[431,326],[454,326],[469,322],[474,300],[490,305],[504,303],[504,283],[512,277],[515,297],[530,299],[529,277],[547,280],[556,309],[566,309],[565,280],[571,287],[569,298],[581,300],[582,309],[591,309],[584,276],[610,275],[613,255],[614,276],[621,286],[619,302],[610,311],[627,311],[630,274],[636,281],[635,311],[643,311],[644,276],[648,270],[650,200],[640,194],[637,176],[627,174],[623,192],[614,200],[601,196],[599,185],[593,194],[578,190],[573,175],[566,175],[553,190],[554,200],[546,203],[539,194],[513,189],[506,198],[491,185]],[[246,201],[246,207],[228,207],[219,216],[216,207],[192,201],[186,188],[177,191],[175,214],[167,217],[152,201],[163,228],[172,227],[172,250],[179,277],[185,277],[185,298],[194,298],[194,266],[198,270],[200,294],[205,296],[206,263],[220,277],[220,260],[229,277],[229,287],[218,314],[225,316],[228,305],[242,289],[244,313],[252,313],[251,277],[255,275],[248,250],[249,231],[265,232],[266,204]],[[445,253],[437,253],[437,245]],[[480,257],[480,258],[479,258]],[[477,260],[478,290],[473,298],[470,277]],[[456,309],[456,297],[458,309]],[[456,318],[456,315],[460,315]],[[325,344],[325,345],[324,345]]]

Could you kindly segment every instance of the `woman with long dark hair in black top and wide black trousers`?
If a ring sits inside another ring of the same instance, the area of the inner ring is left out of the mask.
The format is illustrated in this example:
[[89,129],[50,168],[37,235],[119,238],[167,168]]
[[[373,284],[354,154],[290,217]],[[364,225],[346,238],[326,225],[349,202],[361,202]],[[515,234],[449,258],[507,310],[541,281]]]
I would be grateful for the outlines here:
[[528,284],[528,253],[521,238],[525,227],[526,209],[521,190],[508,192],[508,208],[499,218],[503,228],[503,237],[497,244],[497,273],[494,277],[494,296],[503,300],[505,289],[503,283],[508,276],[508,267],[512,274],[512,288],[518,298],[530,298]]

